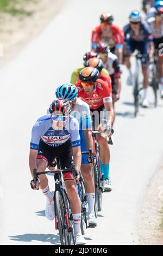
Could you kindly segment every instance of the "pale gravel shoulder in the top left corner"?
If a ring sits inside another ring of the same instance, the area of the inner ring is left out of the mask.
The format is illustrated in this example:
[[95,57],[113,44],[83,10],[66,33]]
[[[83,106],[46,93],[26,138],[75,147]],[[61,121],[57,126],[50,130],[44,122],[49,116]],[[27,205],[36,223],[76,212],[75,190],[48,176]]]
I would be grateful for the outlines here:
[[58,14],[64,3],[65,0],[30,0],[22,4],[23,9],[31,12],[31,15],[13,16],[0,13],[0,44],[3,46],[0,66],[41,33],[49,21]]

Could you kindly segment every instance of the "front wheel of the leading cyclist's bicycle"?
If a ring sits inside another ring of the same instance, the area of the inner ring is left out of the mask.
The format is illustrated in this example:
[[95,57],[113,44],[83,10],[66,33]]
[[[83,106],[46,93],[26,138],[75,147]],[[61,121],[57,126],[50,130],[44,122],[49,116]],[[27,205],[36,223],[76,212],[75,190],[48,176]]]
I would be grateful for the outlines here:
[[62,202],[62,195],[59,191],[55,193],[55,213],[57,216],[57,227],[59,230],[60,243],[61,245],[68,245],[68,231],[66,230],[65,211]]

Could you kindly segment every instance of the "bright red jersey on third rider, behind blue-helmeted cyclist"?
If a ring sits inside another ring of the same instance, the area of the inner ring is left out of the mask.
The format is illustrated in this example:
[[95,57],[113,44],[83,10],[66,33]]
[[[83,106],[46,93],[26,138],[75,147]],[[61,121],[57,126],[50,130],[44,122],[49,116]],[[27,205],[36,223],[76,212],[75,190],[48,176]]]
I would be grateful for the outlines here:
[[95,110],[100,108],[104,103],[112,102],[112,94],[109,90],[108,84],[102,79],[97,79],[95,82],[95,89],[92,94],[87,94],[81,84],[82,82],[78,80],[76,82],[76,87],[78,88],[78,98],[84,100],[89,104],[90,109]]

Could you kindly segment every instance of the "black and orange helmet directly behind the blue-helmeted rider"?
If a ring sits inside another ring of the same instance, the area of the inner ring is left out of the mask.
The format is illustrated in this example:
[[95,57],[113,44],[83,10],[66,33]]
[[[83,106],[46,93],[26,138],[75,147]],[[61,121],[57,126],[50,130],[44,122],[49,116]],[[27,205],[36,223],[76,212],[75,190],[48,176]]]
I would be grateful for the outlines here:
[[82,82],[95,82],[99,78],[97,68],[87,67],[80,71],[79,78]]

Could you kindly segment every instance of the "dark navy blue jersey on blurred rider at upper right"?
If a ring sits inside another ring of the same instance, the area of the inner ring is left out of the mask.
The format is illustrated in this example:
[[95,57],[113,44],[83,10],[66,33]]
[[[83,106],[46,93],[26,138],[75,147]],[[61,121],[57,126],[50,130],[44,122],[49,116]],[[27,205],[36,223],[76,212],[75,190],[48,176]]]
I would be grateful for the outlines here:
[[152,36],[151,28],[145,22],[141,22],[138,35],[134,33],[130,24],[126,25],[123,28],[123,31],[124,31],[125,43],[128,43],[131,40],[134,40],[134,41],[144,41],[145,43],[153,44],[153,36]]

